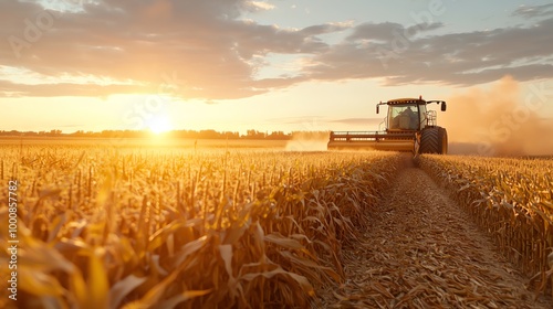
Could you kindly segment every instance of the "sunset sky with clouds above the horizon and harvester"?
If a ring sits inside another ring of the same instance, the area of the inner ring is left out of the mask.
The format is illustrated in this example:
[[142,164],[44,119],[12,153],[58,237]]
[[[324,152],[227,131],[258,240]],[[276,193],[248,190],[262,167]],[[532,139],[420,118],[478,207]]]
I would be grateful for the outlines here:
[[505,84],[553,118],[551,1],[1,0],[0,39],[0,130],[376,130]]

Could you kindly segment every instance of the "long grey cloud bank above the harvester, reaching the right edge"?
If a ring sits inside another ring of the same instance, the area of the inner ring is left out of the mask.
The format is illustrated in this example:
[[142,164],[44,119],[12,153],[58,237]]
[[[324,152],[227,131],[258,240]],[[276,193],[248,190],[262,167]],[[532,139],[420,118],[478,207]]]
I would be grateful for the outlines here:
[[397,23],[364,23],[315,55],[306,71],[315,79],[384,77],[387,85],[474,85],[505,74],[519,81],[549,78],[553,45],[543,42],[553,41],[551,29],[553,19],[528,28],[406,36],[416,31]]

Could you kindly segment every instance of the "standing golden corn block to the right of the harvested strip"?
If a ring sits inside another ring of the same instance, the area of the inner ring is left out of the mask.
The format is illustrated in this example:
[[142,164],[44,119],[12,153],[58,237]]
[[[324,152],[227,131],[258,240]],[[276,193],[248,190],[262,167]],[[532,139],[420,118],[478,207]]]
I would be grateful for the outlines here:
[[533,276],[530,285],[553,294],[553,160],[422,156],[419,163]]

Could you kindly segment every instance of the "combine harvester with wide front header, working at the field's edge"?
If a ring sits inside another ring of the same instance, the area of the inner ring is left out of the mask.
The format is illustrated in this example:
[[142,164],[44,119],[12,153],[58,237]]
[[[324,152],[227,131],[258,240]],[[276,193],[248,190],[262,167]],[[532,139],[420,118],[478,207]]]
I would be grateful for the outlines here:
[[[436,110],[427,110],[427,105],[441,104],[444,100],[424,100],[419,98],[398,98],[380,102],[376,105],[388,106],[388,116],[384,118],[384,131],[331,131],[327,149],[375,149],[387,151],[410,151],[419,153],[440,153],[448,151],[448,135],[438,127]],[[382,124],[380,124],[382,126]]]

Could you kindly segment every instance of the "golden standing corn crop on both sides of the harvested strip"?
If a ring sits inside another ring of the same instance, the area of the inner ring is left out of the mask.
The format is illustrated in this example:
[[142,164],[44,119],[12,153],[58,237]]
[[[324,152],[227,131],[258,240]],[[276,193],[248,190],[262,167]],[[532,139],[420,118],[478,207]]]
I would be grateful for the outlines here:
[[[18,242],[20,308],[313,307],[316,290],[347,279],[342,247],[403,160],[93,143],[7,142],[0,153],[2,226],[17,209],[0,244]],[[551,288],[552,160],[418,163],[535,275],[536,290]],[[1,252],[1,265],[12,259]],[[0,307],[12,305],[2,295]]]

